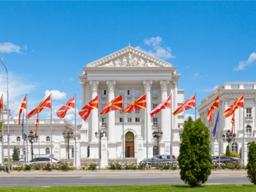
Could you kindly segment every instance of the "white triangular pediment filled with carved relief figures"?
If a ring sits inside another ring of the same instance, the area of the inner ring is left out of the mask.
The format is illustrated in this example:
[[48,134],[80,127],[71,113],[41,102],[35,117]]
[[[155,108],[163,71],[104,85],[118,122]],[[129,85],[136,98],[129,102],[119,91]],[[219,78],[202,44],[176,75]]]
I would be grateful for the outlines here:
[[172,67],[172,64],[129,46],[93,61],[87,67]]

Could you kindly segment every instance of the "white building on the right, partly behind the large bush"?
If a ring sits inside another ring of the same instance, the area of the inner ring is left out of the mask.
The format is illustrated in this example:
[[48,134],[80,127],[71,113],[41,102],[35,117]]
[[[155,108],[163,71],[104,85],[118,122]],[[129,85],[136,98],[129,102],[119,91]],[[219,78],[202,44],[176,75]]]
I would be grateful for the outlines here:
[[[245,138],[245,148],[244,157],[248,154],[248,149],[250,143],[256,140],[256,83],[223,83],[214,92],[205,97],[201,101],[201,105],[196,109],[199,111],[200,118],[204,122],[205,126],[209,128],[210,131],[210,147],[211,154],[218,156],[218,129],[216,130],[216,135],[213,136],[212,130],[215,125],[218,109],[214,110],[214,115],[212,116],[212,121],[208,122],[207,114],[209,108],[211,108],[214,100],[220,94],[220,135],[226,134],[228,129],[232,130],[231,119],[232,116],[225,118],[222,114],[226,111],[241,95],[244,94],[244,116],[243,108],[236,109],[235,111],[235,123],[234,123],[234,133],[236,133],[236,141],[232,141],[232,151],[239,154],[240,148],[243,146],[243,126],[244,126],[244,138]],[[244,125],[243,125],[244,117]],[[228,145],[227,141],[223,141],[222,137],[220,140],[220,153],[224,154],[226,152],[226,147]],[[247,158],[244,159],[245,164],[247,164]]]

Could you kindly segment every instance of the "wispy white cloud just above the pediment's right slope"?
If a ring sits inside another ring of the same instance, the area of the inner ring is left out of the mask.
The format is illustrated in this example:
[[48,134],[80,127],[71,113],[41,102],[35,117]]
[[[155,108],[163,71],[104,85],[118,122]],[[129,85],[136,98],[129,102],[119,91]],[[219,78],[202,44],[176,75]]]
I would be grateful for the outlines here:
[[169,47],[164,49],[163,47],[157,45],[152,50],[146,51],[142,49],[140,46],[137,46],[136,49],[147,52],[148,54],[151,54],[152,56],[155,56],[156,58],[160,58],[163,60],[167,60],[168,58],[175,58],[175,56],[172,55],[172,50]]

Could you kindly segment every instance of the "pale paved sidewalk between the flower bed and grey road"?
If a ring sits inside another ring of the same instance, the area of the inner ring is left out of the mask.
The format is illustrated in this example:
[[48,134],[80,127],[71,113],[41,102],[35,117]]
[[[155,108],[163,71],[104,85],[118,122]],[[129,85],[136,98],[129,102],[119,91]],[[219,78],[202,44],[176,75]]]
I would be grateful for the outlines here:
[[[180,178],[180,170],[74,170],[74,171],[11,171],[10,174],[0,172],[0,178]],[[243,178],[247,177],[245,170],[212,170],[209,178]]]

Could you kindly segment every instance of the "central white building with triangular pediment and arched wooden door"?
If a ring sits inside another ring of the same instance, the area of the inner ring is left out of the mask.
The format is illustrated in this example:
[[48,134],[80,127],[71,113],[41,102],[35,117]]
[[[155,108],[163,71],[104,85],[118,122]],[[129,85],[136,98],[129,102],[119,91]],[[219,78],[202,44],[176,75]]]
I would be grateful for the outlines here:
[[[177,67],[159,60],[133,47],[125,47],[83,67],[81,79],[83,108],[97,95],[99,109],[93,109],[80,129],[81,158],[98,158],[99,143],[95,132],[106,132],[108,158],[122,158],[122,121],[124,120],[125,157],[143,160],[146,158],[146,131],[148,130],[148,157],[157,153],[157,140],[153,131],[162,131],[159,154],[170,154],[171,109],[161,110],[153,118],[149,115],[162,100],[172,94],[172,110],[184,102],[184,90],[178,89],[180,74]],[[147,109],[129,113],[122,110],[100,115],[100,111],[119,95],[123,95],[123,108],[147,94]],[[173,154],[179,156],[180,135],[184,127],[184,113],[173,116]],[[106,145],[104,145],[106,146]],[[103,148],[104,148],[103,146]]]

